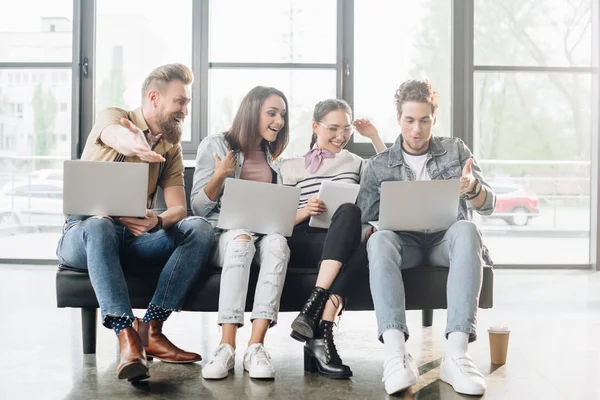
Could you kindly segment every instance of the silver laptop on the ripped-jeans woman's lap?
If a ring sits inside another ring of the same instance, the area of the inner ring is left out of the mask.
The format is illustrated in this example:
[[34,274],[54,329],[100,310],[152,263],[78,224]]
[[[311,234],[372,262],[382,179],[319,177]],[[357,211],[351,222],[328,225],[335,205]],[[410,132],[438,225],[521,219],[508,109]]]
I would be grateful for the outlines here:
[[292,236],[300,188],[227,178],[217,227]]

